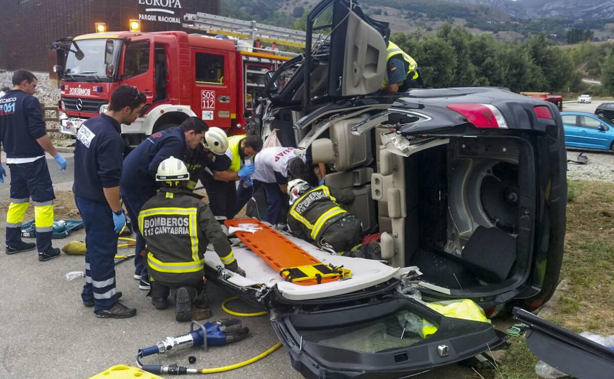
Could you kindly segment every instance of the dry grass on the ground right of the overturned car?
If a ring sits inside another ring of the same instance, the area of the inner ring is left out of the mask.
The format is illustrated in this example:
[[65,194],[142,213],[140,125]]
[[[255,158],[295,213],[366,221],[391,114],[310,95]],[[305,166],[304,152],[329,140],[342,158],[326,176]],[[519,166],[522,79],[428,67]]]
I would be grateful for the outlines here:
[[[559,298],[549,321],[577,333],[614,334],[614,184],[568,182],[567,200],[561,278],[567,279],[569,290]],[[499,370],[492,370],[490,377],[538,378],[538,359],[524,337],[510,342]]]

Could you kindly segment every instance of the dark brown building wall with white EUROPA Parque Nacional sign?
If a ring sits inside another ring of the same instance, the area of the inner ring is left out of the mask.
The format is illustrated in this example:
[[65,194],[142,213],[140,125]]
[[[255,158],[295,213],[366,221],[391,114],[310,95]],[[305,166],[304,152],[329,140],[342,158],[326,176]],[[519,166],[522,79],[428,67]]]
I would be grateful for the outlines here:
[[[220,0],[0,0],[0,68],[47,71],[56,39],[128,29],[141,18],[142,31],[181,30],[185,13],[219,14]],[[173,12],[171,14],[171,12]]]

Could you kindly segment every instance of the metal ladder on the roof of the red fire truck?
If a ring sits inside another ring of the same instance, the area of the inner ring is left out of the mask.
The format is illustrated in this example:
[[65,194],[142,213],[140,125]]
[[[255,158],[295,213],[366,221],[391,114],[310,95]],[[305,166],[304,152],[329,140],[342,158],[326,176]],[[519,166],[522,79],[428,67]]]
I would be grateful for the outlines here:
[[186,14],[184,20],[186,21],[183,24],[184,28],[196,29],[207,34],[252,39],[254,46],[257,42],[263,42],[305,49],[306,34],[300,30],[202,12]]

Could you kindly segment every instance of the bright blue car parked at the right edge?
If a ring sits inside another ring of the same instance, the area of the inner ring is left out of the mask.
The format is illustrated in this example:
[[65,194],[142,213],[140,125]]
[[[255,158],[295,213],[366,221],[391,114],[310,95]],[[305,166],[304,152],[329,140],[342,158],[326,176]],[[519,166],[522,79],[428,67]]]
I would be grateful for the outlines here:
[[614,151],[614,123],[587,112],[561,112],[565,146]]

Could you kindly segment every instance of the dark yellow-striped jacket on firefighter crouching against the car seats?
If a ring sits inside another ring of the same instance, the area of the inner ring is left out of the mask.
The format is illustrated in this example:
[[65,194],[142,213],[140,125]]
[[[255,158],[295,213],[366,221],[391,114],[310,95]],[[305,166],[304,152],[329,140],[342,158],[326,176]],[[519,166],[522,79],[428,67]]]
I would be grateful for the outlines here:
[[330,225],[348,216],[348,211],[339,204],[352,201],[354,192],[349,189],[327,186],[309,189],[290,206],[288,226],[298,238],[319,241]]

